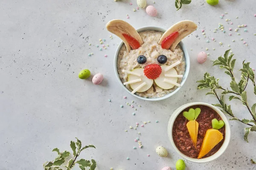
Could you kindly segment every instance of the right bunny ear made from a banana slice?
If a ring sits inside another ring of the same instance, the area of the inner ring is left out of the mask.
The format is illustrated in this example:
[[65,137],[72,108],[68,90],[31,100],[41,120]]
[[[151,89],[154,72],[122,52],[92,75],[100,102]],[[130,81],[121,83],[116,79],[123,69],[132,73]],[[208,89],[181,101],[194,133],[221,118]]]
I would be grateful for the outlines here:
[[[170,27],[167,31],[165,31],[163,36],[160,38],[158,44],[162,45],[162,47],[163,47],[162,43],[165,43],[165,42],[168,43],[168,40],[166,40],[167,38],[171,39],[171,37],[168,37],[168,36],[175,32],[178,32],[177,38],[175,38],[175,40],[172,42],[172,44],[169,47],[172,51],[174,51],[174,49],[178,45],[178,43],[183,38],[185,38],[187,35],[189,35],[193,31],[195,31],[196,28],[197,28],[197,25],[193,21],[190,21],[190,20],[180,21],[180,22],[174,24],[172,27]],[[164,45],[164,46],[166,46],[166,45]]]

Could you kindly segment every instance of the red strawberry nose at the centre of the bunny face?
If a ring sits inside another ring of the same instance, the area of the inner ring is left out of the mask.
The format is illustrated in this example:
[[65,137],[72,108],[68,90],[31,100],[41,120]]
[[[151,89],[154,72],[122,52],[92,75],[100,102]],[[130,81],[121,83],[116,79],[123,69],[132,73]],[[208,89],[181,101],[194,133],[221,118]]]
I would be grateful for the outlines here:
[[162,73],[162,68],[158,64],[146,65],[144,68],[144,74],[148,79],[157,79]]

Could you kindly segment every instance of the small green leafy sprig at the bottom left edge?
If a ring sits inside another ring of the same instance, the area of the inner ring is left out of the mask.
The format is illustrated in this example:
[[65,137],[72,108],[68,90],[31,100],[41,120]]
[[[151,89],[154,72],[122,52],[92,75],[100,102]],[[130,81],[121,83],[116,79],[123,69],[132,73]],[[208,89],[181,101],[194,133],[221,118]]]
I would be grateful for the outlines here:
[[[96,161],[94,159],[92,159],[91,161],[85,160],[85,159],[80,159],[80,160],[76,161],[77,157],[80,155],[82,150],[89,148],[89,147],[95,148],[95,146],[93,146],[92,144],[89,144],[88,146],[84,146],[84,147],[81,147],[81,146],[82,146],[82,143],[79,139],[77,139],[77,142],[70,141],[70,147],[73,150],[73,158],[71,158],[68,161],[68,163],[63,166],[67,170],[71,170],[73,167],[75,167],[75,164],[79,164],[79,168],[81,170],[85,170],[85,167],[90,167],[89,170],[95,170]],[[53,161],[45,162],[43,164],[44,170],[63,170],[63,169],[61,169],[61,165],[63,165],[65,162],[65,159],[68,156],[70,156],[70,152],[68,152],[66,150],[63,152],[60,152],[60,150],[58,148],[54,148],[52,150],[52,152],[57,152],[58,156]]]

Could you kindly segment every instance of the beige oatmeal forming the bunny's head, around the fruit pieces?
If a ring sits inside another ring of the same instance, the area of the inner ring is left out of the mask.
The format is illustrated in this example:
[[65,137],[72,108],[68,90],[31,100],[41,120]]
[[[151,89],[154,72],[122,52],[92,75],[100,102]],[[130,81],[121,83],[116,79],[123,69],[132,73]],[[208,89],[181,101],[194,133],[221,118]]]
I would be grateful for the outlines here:
[[[180,64],[175,66],[174,68],[177,71],[178,75],[184,74],[186,63],[185,63],[184,54],[180,45],[177,45],[174,51],[162,48],[161,45],[157,43],[163,35],[163,32],[160,32],[160,31],[141,31],[139,32],[139,34],[141,39],[143,40],[143,44],[140,46],[140,48],[131,50],[130,52],[128,52],[124,44],[122,45],[118,54],[117,71],[119,74],[119,78],[123,83],[128,81],[128,73],[122,72],[123,69],[127,71],[132,71],[135,68],[144,68],[149,64],[159,64],[159,65],[169,66],[174,64],[177,61],[180,61]],[[146,57],[146,62],[143,64],[139,64],[137,62],[137,58],[140,55],[143,55]],[[160,55],[164,55],[167,57],[166,63],[160,64],[157,61],[157,58]],[[177,83],[180,84],[181,80],[182,78],[177,78]],[[125,85],[125,87],[129,91],[134,90],[131,88],[129,84]],[[171,89],[163,89],[163,88],[160,88],[154,81],[151,88],[149,88],[147,91],[136,92],[135,94],[145,98],[159,98],[159,97],[165,96],[166,94],[171,93],[176,88],[177,86],[174,86]]]

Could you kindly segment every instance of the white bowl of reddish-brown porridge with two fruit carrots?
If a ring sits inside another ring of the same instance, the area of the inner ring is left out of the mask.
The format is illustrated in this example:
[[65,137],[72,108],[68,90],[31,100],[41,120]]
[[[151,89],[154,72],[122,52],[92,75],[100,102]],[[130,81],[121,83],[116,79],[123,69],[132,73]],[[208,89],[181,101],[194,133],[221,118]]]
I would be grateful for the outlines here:
[[[195,120],[189,121],[185,116],[191,109],[198,109],[200,113]],[[213,121],[224,124],[216,128]],[[195,143],[191,137],[190,132],[193,128],[188,126],[189,122],[197,123]],[[213,161],[221,156],[227,149],[230,135],[230,125],[224,113],[215,106],[203,102],[192,102],[180,106],[172,114],[168,123],[168,136],[175,151],[184,159],[196,163]],[[214,141],[215,139],[219,140]]]

